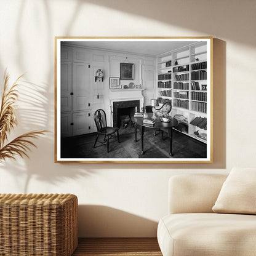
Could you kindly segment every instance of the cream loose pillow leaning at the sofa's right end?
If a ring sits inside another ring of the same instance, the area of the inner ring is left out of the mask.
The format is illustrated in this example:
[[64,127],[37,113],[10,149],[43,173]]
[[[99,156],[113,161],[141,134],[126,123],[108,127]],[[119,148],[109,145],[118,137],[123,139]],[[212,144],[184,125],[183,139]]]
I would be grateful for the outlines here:
[[256,214],[256,169],[233,168],[212,210],[223,214]]

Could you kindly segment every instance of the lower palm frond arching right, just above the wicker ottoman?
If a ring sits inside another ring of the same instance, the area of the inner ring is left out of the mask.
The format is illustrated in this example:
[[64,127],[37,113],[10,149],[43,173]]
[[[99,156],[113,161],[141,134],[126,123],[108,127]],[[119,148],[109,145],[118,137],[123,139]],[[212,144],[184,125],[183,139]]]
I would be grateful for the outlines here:
[[45,134],[47,130],[33,130],[26,134],[20,135],[7,145],[0,149],[0,162],[5,161],[7,158],[15,159],[15,156],[28,157],[28,151],[31,151],[31,146],[36,145],[31,141],[38,138],[39,135]]

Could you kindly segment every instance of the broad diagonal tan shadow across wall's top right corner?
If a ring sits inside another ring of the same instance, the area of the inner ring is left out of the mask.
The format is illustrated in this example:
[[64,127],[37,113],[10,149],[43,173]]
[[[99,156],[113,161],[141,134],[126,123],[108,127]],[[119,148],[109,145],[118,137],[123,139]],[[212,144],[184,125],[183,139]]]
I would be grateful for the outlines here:
[[[199,34],[197,36],[217,34],[218,37],[248,46],[256,45],[256,33],[252,33],[250,30],[251,24],[256,23],[255,1],[236,1],[233,4],[230,1],[204,0],[130,0],[118,2],[115,0],[80,0],[79,4],[81,2],[84,5],[87,3],[94,4],[110,10],[119,10],[124,14],[137,15],[149,20],[158,20],[166,23],[166,25],[193,31],[193,34],[188,34],[187,31],[183,34],[164,34],[164,31],[162,31],[162,36],[193,36],[198,31]],[[254,20],[252,17],[254,17]],[[97,18],[101,19],[102,17],[98,16]],[[111,20],[111,15],[109,18],[108,22],[103,22],[102,20],[102,31],[104,31],[104,26],[109,26],[109,22],[116,24],[116,20],[113,20],[113,18]],[[105,34],[102,36],[105,36]],[[130,34],[119,34],[119,36],[130,36]],[[140,34],[140,36],[143,36],[143,34]]]

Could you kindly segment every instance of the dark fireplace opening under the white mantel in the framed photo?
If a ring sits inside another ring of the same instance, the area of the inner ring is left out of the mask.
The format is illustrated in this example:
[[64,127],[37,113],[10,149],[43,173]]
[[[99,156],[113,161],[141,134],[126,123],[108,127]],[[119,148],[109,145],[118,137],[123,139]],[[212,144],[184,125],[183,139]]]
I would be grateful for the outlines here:
[[113,102],[113,125],[120,127],[122,120],[132,119],[136,111],[140,111],[140,100],[126,100],[122,102]]

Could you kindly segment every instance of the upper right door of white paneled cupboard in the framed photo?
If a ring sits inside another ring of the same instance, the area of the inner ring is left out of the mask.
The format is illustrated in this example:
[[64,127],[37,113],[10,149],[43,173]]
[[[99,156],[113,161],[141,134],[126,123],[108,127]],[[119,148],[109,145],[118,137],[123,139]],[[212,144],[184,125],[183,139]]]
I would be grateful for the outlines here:
[[89,86],[89,63],[73,62],[72,81],[73,81],[73,111],[89,110],[92,108],[90,102]]

